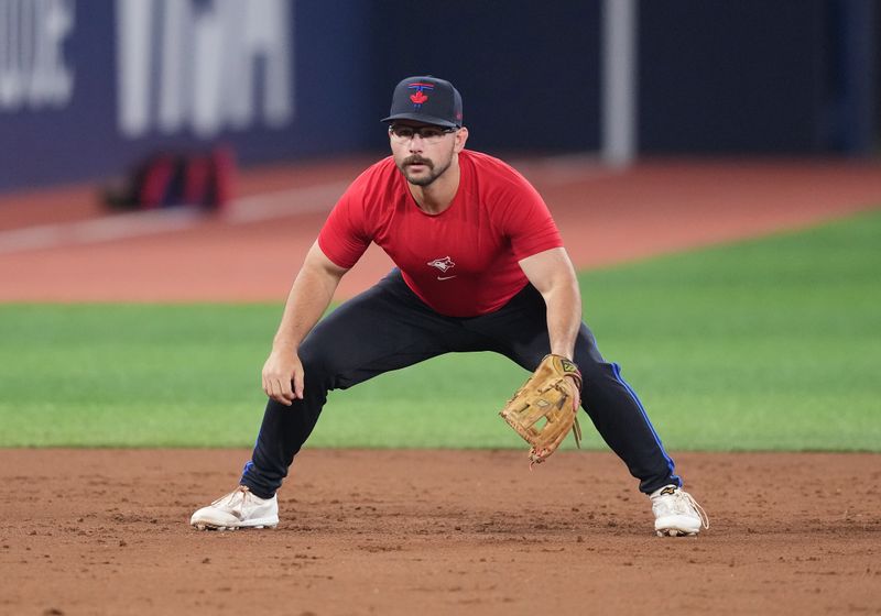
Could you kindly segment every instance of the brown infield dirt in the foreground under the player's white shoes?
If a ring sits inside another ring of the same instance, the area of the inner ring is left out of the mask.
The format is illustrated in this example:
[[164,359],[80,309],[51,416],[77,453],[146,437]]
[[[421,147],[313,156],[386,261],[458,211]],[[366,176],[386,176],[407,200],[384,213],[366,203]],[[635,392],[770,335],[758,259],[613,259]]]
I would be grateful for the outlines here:
[[881,457],[677,457],[657,538],[608,453],[304,451],[275,530],[198,532],[247,451],[0,451],[0,613],[881,614]]

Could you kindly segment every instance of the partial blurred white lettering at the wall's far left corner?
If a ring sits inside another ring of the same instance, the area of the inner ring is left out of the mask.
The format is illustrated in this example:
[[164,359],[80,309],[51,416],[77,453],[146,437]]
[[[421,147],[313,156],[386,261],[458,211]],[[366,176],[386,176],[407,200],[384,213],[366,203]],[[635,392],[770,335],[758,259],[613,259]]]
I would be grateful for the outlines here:
[[64,42],[73,30],[73,0],[0,0],[0,113],[69,102]]

